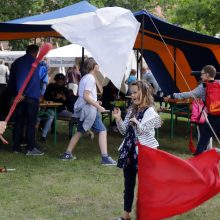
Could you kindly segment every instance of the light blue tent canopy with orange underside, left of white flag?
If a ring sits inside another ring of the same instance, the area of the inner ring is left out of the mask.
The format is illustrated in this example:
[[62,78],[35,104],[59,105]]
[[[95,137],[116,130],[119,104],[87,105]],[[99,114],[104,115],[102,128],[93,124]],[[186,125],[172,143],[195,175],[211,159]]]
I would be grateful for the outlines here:
[[95,6],[89,4],[87,1],[81,1],[45,14],[20,18],[8,22],[0,22],[0,40],[62,37],[52,29],[52,24],[68,16],[94,12],[96,9]]

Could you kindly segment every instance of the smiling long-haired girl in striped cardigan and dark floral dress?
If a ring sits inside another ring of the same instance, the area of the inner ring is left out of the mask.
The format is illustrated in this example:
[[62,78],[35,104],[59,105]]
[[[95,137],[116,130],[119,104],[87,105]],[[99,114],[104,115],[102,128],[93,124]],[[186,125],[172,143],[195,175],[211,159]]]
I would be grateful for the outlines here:
[[151,85],[146,81],[135,81],[130,88],[132,105],[124,121],[119,108],[115,108],[112,113],[118,130],[125,136],[119,148],[117,164],[119,168],[123,168],[124,173],[124,213],[118,220],[131,219],[137,174],[137,142],[157,148],[159,143],[154,137],[155,128],[161,126],[161,119],[154,109]]

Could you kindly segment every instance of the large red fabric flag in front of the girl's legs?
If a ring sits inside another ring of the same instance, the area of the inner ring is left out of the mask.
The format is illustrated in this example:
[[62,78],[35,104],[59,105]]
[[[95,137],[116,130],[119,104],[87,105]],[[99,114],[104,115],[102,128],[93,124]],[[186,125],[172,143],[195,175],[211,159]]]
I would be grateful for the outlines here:
[[178,215],[218,194],[219,160],[214,149],[184,160],[139,144],[137,219]]

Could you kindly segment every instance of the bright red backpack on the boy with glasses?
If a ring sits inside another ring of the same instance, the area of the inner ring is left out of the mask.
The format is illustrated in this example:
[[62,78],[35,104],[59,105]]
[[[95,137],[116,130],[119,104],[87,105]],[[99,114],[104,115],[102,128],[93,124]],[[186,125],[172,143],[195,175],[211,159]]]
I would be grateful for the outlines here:
[[206,82],[206,107],[211,115],[220,115],[220,82]]

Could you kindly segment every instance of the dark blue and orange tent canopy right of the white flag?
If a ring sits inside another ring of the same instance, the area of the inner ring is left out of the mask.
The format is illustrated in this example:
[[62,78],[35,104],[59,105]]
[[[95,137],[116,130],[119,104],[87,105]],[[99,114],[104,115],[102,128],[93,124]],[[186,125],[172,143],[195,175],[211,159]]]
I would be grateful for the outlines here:
[[197,80],[192,71],[207,64],[220,70],[220,39],[167,23],[145,10],[134,15],[143,24],[134,48],[143,46],[143,56],[165,94],[189,90],[181,73],[193,89]]

